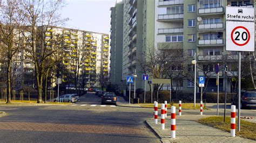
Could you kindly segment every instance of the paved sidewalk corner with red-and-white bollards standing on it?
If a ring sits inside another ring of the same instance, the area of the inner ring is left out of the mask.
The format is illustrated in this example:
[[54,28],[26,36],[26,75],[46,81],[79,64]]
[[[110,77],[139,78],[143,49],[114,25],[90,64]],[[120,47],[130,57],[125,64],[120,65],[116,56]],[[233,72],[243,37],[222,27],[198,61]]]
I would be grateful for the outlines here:
[[[212,116],[212,115],[211,115]],[[156,132],[162,142],[255,142],[254,140],[241,138],[239,136],[230,137],[229,132],[218,130],[217,128],[203,125],[197,122],[206,115],[176,115],[176,139],[171,138],[171,117],[165,119],[165,130],[161,130],[160,118],[158,124],[154,124],[154,119],[146,120],[146,123]]]

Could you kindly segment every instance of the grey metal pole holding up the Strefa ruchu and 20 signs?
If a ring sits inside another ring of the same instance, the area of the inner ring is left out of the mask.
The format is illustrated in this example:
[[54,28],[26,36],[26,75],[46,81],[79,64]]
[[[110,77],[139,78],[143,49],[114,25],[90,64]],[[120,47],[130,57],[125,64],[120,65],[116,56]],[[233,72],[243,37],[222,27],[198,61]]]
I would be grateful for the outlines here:
[[240,132],[240,108],[241,108],[241,52],[239,51],[239,58],[238,58],[238,119],[237,119],[237,129]]

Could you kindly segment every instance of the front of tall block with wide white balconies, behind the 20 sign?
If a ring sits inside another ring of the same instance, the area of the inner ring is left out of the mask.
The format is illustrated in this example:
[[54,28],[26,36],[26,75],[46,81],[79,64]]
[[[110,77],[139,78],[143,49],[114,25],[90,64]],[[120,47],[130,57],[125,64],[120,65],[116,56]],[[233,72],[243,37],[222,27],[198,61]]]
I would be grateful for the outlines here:
[[[183,48],[187,55],[187,69],[194,72],[194,53],[197,53],[197,76],[209,78],[206,91],[217,91],[215,66],[220,64],[228,66],[228,77],[237,76],[237,52],[227,52],[225,49],[225,6],[253,7],[253,1],[238,0],[199,0],[199,1],[155,1],[155,47],[159,49]],[[191,68],[190,68],[191,67]],[[174,69],[175,70],[175,69]],[[177,70],[177,69],[176,69]],[[204,71],[208,70],[207,73]],[[206,74],[206,75],[205,75]],[[220,91],[224,90],[224,73],[219,72]],[[183,81],[182,90],[192,91],[193,83]],[[227,82],[228,91],[231,91],[231,82]]]

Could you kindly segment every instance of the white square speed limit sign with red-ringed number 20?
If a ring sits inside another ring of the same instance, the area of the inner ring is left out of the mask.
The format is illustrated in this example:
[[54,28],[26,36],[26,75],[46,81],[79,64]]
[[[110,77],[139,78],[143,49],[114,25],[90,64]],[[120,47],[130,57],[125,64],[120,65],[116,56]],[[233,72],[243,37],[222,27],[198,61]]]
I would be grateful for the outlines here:
[[226,22],[226,50],[254,52],[254,23]]

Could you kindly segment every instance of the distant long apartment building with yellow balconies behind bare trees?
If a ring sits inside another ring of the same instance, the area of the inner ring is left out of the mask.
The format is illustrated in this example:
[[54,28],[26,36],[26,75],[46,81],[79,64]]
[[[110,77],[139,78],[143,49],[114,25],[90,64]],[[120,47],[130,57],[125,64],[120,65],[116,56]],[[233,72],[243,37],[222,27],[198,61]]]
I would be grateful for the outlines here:
[[[46,48],[60,48],[58,54],[60,54],[65,69],[60,74],[65,85],[74,86],[72,78],[75,78],[76,73],[79,75],[79,87],[101,87],[101,82],[104,84],[108,82],[108,34],[53,27],[46,30],[45,40],[48,41]],[[53,41],[58,41],[58,45]],[[24,43],[24,46],[29,46],[26,41]],[[24,86],[34,86],[34,65],[30,61],[32,58],[25,49],[17,54],[15,60],[17,72],[14,75],[17,89]]]

